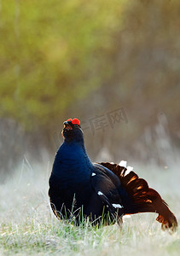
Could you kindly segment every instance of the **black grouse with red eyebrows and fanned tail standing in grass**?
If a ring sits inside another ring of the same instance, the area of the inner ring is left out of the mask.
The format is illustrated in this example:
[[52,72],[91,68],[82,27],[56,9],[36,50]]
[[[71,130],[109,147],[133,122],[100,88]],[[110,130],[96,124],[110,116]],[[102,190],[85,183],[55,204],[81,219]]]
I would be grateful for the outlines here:
[[80,120],[67,119],[63,125],[64,141],[49,177],[49,201],[57,218],[77,225],[86,219],[97,225],[122,224],[125,215],[155,212],[163,230],[177,230],[177,218],[167,203],[131,166],[126,167],[125,160],[93,163]]

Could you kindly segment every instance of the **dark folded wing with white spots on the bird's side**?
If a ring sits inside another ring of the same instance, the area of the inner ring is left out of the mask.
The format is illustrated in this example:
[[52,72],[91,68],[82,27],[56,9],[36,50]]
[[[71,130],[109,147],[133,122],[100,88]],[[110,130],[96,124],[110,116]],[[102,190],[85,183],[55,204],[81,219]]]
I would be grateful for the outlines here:
[[104,206],[115,217],[121,217],[124,214],[124,208],[119,194],[120,182],[119,178],[106,167],[94,164],[94,171],[91,174],[91,184],[99,196]]

